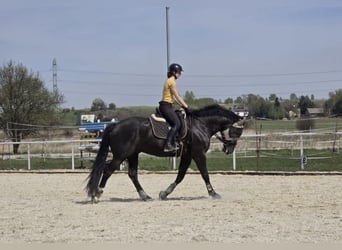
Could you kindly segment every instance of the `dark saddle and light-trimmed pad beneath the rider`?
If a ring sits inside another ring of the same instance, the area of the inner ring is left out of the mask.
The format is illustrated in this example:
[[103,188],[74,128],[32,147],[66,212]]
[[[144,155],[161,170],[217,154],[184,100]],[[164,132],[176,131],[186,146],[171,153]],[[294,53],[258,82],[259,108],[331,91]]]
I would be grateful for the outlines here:
[[[188,133],[188,127],[186,125],[186,114],[184,110],[176,110],[176,114],[181,122],[180,129],[178,130],[176,140],[182,140]],[[161,115],[158,108],[156,108],[156,113],[149,117],[152,133],[155,137],[159,139],[166,139],[167,134],[170,130],[170,125],[167,123],[165,118]]]

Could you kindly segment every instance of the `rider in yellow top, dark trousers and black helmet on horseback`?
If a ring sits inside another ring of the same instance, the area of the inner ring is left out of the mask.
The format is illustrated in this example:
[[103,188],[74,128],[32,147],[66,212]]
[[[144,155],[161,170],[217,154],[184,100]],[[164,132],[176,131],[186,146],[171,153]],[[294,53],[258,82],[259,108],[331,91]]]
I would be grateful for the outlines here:
[[185,111],[188,111],[188,105],[185,103],[183,98],[179,95],[176,80],[181,76],[183,68],[177,63],[173,63],[169,66],[167,72],[167,80],[164,83],[162,100],[159,102],[159,110],[166,121],[171,126],[167,134],[166,143],[164,145],[164,152],[172,152],[177,148],[175,146],[175,137],[181,124],[180,120],[173,110],[172,104],[176,101]]

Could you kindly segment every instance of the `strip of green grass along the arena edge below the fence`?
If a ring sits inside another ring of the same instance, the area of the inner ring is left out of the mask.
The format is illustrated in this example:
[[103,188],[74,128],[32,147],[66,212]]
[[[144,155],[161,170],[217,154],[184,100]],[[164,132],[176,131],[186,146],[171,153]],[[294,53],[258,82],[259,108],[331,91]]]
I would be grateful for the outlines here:
[[[342,152],[332,150],[305,150],[307,164],[305,171],[342,171]],[[75,168],[91,168],[92,158],[83,160],[75,158]],[[178,168],[180,159],[176,159]],[[71,169],[71,158],[31,158],[32,170]],[[207,154],[207,167],[209,171],[233,170],[233,156],[222,152]],[[194,162],[190,168],[197,170]],[[27,158],[0,159],[0,169],[28,169]],[[149,171],[167,171],[173,169],[171,158],[161,158],[149,155],[140,155],[139,169]],[[259,156],[255,151],[240,152],[236,158],[237,171],[301,171],[301,157],[299,151],[291,150],[263,150]]]

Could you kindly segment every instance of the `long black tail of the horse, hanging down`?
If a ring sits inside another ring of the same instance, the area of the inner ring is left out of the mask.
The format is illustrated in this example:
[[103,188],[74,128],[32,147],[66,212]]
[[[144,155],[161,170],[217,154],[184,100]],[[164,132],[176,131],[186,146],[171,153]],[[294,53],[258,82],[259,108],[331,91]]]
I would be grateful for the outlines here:
[[110,145],[110,134],[114,125],[108,126],[102,136],[100,149],[97,152],[95,162],[92,166],[92,170],[88,176],[88,183],[86,191],[89,197],[97,195],[98,185],[102,177],[102,173],[106,167],[106,159],[108,156]]

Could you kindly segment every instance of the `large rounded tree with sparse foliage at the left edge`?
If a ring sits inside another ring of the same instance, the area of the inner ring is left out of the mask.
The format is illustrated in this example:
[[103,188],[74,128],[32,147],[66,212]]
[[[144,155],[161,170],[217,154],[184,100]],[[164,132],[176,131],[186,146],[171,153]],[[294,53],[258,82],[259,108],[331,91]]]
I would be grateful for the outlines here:
[[[10,61],[0,67],[0,126],[13,142],[36,132],[35,125],[58,123],[63,95],[49,92],[38,73]],[[13,145],[18,153],[19,144]]]

